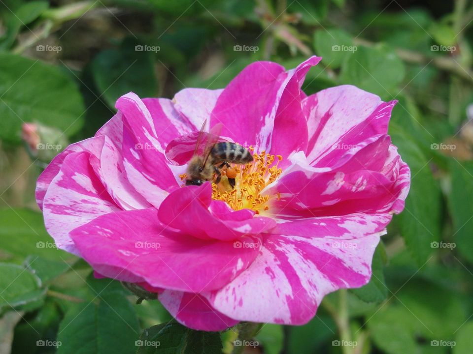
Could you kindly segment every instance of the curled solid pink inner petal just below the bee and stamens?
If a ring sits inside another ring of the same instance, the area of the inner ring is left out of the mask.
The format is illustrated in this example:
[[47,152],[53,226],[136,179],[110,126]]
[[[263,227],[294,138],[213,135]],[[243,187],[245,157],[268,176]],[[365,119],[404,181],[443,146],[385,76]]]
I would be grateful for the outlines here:
[[[202,239],[238,240],[241,236],[259,235],[276,223],[268,217],[254,216],[249,209],[233,210],[225,202],[212,201],[212,186],[178,188],[159,209],[160,221],[184,234]],[[255,243],[254,247],[259,247]]]

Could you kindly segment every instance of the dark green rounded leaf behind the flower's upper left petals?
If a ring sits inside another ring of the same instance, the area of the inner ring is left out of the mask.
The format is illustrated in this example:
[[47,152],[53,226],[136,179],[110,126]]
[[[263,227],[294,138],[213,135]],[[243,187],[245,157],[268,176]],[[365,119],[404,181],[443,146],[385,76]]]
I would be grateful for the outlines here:
[[141,98],[156,96],[158,81],[153,55],[158,48],[124,40],[118,49],[105,50],[94,58],[92,74],[110,107],[114,107],[116,100],[130,91]]

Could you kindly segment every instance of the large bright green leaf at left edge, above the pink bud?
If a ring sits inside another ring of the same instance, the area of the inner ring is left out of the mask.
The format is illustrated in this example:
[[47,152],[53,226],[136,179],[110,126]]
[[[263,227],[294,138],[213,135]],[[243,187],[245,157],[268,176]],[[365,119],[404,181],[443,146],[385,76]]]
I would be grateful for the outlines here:
[[23,122],[54,126],[67,136],[82,126],[85,107],[80,92],[56,66],[0,53],[0,97],[0,139],[10,143],[21,141]]

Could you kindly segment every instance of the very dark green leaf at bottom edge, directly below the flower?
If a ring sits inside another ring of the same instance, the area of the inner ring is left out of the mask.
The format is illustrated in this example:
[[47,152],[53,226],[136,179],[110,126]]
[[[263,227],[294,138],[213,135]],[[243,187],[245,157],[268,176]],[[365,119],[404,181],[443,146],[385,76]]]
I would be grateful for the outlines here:
[[[146,328],[139,340],[137,354],[221,354],[218,332],[196,331],[171,322]],[[158,348],[158,350],[157,350]]]

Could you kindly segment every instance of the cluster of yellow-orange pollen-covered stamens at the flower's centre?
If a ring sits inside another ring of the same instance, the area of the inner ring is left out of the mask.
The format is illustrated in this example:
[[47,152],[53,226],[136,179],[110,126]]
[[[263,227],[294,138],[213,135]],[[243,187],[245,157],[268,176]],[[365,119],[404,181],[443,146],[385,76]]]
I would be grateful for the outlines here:
[[[249,150],[253,152],[254,148],[250,147]],[[222,177],[220,183],[212,184],[212,198],[226,202],[235,210],[248,208],[257,214],[269,210],[271,196],[262,192],[281,175],[282,169],[278,167],[281,160],[282,156],[271,155],[266,151],[253,153],[253,162],[231,168],[232,176],[236,172],[235,188],[232,189],[227,178]]]

